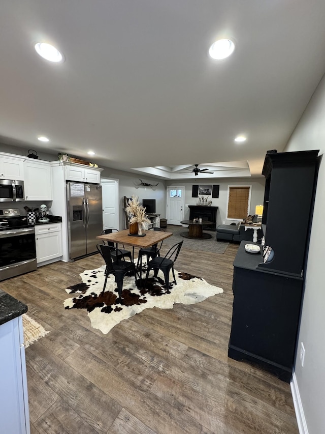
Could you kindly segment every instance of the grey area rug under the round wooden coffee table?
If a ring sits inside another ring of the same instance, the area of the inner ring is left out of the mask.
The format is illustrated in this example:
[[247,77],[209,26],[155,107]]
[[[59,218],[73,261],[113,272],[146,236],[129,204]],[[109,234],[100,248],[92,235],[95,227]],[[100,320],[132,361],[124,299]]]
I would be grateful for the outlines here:
[[184,238],[180,235],[181,232],[187,232],[188,228],[186,226],[177,226],[177,225],[167,225],[167,228],[165,229],[167,232],[172,232],[172,237],[167,238],[164,240],[165,246],[173,246],[176,243],[179,243],[180,241],[183,241],[183,247],[186,247],[190,250],[201,250],[205,252],[213,252],[213,253],[219,253],[223,254],[226,251],[226,248],[229,246],[228,241],[216,241],[216,232],[215,230],[205,230],[203,229],[203,232],[206,232],[207,234],[212,235],[212,238],[209,238],[208,240],[193,240]]

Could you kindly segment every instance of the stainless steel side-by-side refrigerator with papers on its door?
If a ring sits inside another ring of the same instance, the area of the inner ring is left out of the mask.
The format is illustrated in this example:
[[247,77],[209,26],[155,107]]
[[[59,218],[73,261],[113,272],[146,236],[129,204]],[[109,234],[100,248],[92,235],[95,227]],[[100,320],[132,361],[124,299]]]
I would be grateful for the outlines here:
[[103,230],[102,186],[67,183],[69,260],[97,252]]

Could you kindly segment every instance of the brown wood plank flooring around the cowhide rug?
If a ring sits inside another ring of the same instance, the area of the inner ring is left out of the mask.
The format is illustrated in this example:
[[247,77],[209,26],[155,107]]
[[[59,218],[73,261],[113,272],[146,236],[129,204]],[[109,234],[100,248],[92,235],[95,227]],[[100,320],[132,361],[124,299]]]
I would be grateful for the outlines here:
[[147,309],[106,335],[86,311],[63,308],[65,288],[101,266],[99,254],[1,282],[51,330],[25,350],[31,433],[297,434],[289,385],[227,356],[237,249],[183,248],[176,269],[223,294]]

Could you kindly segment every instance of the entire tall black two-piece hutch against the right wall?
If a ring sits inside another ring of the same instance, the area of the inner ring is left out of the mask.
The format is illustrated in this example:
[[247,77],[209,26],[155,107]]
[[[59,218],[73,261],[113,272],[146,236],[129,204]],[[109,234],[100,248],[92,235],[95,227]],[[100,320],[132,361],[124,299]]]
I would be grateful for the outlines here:
[[290,382],[304,291],[318,151],[267,154],[262,227],[274,250],[264,263],[242,241],[234,261],[229,357]]

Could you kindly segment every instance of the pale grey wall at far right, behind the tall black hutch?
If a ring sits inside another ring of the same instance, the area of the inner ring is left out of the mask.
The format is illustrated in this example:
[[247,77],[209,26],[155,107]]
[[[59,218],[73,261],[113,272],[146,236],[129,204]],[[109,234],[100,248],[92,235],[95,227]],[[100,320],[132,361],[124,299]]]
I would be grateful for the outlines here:
[[[325,78],[320,82],[285,151],[325,149]],[[320,162],[311,238],[306,272],[306,286],[298,338],[305,346],[304,367],[299,355],[295,377],[309,434],[325,432],[325,159]],[[289,246],[288,246],[289,247]]]

